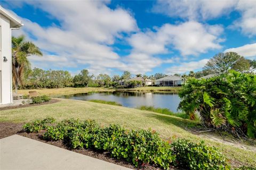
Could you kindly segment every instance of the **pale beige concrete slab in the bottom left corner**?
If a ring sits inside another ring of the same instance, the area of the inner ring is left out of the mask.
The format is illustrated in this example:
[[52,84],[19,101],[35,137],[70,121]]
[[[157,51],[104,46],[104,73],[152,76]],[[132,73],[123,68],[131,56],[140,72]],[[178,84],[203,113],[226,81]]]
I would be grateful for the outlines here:
[[0,140],[0,169],[124,169],[20,135]]

